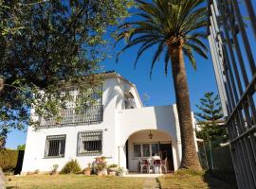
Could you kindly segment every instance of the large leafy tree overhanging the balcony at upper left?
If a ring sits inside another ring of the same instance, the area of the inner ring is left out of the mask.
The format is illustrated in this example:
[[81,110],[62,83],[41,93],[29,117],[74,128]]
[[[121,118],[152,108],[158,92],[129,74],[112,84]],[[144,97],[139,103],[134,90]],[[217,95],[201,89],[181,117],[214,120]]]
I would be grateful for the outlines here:
[[70,97],[60,97],[67,85],[79,86],[88,98],[87,89],[100,82],[91,74],[105,58],[108,26],[127,16],[130,3],[1,0],[0,129],[38,126],[29,119],[31,107],[39,116],[58,114]]

